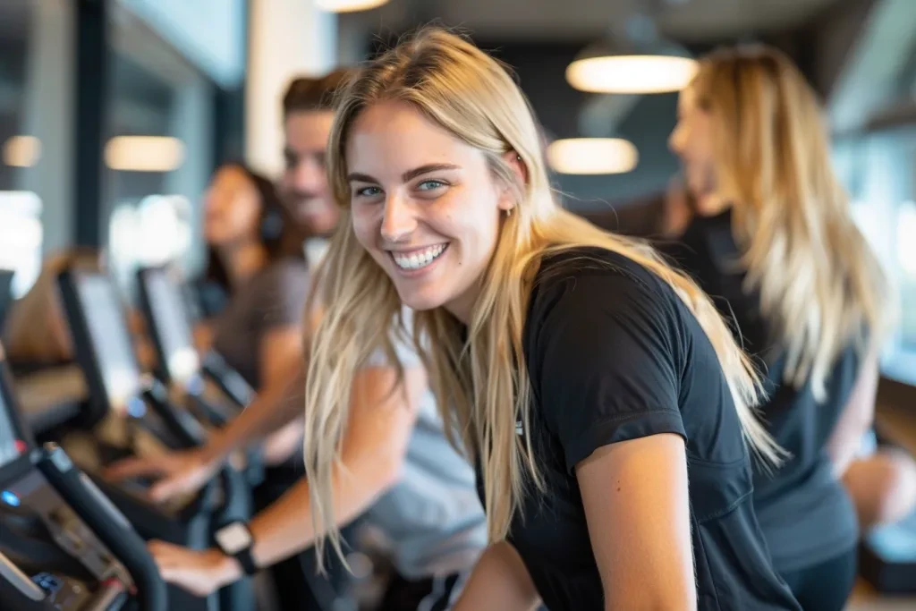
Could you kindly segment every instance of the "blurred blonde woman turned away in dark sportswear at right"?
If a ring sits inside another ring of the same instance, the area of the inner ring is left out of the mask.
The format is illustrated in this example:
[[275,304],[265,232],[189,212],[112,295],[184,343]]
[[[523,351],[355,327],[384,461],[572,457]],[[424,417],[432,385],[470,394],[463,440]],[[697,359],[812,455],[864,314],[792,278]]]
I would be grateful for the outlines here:
[[842,483],[870,427],[889,285],[830,163],[811,87],[775,49],[703,58],[671,148],[696,200],[671,254],[766,365],[769,431],[791,453],[755,472],[760,526],[805,609],[839,611],[856,576]]

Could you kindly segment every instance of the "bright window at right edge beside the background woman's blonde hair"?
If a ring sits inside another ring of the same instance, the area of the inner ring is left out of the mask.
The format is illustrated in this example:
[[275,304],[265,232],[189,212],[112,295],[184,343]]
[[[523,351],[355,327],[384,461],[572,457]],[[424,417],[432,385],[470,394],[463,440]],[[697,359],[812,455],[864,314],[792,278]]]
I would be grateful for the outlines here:
[[856,138],[838,146],[837,153],[856,222],[900,300],[900,322],[882,371],[916,385],[916,128]]

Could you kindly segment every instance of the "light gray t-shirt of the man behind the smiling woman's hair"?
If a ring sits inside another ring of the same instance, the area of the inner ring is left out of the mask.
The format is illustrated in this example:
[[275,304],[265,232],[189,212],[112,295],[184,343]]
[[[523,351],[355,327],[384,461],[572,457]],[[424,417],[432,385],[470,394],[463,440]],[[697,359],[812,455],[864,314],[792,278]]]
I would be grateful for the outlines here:
[[[405,310],[405,320],[408,314]],[[396,347],[403,366],[419,364],[411,346]],[[376,355],[373,362],[383,359]],[[442,417],[429,389],[420,399],[401,474],[398,484],[368,512],[369,523],[393,547],[398,573],[420,579],[470,570],[486,546],[484,509],[477,497],[474,469],[445,439]]]

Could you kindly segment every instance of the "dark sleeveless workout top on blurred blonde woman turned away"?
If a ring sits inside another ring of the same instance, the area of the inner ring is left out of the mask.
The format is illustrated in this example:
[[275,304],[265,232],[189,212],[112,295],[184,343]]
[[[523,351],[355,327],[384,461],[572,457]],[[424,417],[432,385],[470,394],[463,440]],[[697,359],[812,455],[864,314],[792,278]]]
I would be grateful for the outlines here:
[[661,250],[695,278],[748,354],[766,366],[768,399],[761,406],[769,431],[792,459],[773,474],[754,472],[754,504],[780,572],[798,571],[849,551],[858,536],[856,510],[837,480],[826,444],[856,382],[859,358],[850,345],[827,377],[818,404],[811,383],[782,384],[785,351],[770,341],[759,297],[744,289],[746,273],[732,234],[730,212],[698,217],[680,242]]

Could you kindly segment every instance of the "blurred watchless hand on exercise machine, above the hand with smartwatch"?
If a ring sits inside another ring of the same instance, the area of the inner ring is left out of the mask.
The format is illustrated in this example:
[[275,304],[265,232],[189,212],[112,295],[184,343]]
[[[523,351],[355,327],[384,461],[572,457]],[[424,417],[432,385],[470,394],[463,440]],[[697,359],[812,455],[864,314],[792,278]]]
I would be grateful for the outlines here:
[[173,452],[146,458],[128,458],[113,464],[105,476],[114,481],[128,477],[158,476],[147,493],[150,500],[163,503],[176,496],[200,490],[213,479],[220,466],[218,460],[203,448]]

